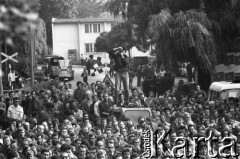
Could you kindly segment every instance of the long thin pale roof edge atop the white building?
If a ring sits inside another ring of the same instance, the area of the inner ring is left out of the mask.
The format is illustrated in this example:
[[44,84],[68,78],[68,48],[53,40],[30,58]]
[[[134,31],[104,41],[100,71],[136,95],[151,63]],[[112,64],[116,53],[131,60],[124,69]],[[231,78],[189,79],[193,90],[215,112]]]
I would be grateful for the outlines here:
[[92,22],[121,22],[121,19],[114,18],[76,18],[76,19],[56,19],[52,18],[52,23],[92,23]]

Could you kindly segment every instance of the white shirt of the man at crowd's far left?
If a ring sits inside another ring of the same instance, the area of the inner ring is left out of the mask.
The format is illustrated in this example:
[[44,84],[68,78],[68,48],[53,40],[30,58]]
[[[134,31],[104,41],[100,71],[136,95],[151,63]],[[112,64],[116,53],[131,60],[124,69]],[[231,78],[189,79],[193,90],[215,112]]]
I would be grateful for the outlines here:
[[15,107],[14,105],[10,105],[8,108],[7,116],[11,119],[23,120],[23,108],[20,105],[18,105],[17,107]]

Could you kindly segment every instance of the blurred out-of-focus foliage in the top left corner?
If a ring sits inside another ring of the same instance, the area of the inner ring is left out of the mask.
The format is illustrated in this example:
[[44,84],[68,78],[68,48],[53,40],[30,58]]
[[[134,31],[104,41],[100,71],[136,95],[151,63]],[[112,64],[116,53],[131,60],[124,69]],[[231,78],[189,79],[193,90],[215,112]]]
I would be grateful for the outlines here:
[[38,24],[38,15],[33,11],[36,0],[13,0],[0,3],[0,45],[3,42],[13,46],[13,37],[21,35],[28,39],[31,29]]

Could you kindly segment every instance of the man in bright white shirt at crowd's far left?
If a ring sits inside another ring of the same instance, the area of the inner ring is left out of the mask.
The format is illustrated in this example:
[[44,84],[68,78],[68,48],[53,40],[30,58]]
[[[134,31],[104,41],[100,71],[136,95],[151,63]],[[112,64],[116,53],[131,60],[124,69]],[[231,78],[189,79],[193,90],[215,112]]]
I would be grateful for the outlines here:
[[13,105],[10,105],[7,111],[7,116],[10,119],[22,121],[24,119],[24,111],[22,106],[19,105],[19,98],[13,98]]

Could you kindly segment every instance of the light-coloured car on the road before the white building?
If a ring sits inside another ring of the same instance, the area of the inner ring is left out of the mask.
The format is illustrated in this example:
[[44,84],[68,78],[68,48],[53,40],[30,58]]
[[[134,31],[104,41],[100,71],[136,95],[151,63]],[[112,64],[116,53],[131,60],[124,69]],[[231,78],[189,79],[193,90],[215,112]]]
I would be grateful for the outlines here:
[[60,71],[58,74],[59,80],[68,81],[74,79],[74,70],[70,60],[59,60]]

